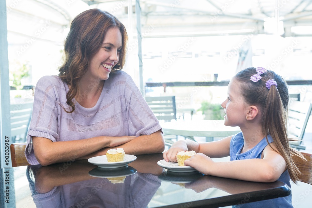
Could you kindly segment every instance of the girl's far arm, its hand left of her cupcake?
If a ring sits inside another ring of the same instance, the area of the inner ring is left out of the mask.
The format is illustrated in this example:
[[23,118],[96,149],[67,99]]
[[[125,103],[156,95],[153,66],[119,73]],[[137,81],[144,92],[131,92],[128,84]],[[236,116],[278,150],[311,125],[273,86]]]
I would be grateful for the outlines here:
[[163,158],[167,162],[177,162],[177,154],[181,151],[201,152],[209,157],[226,157],[230,155],[230,141],[232,136],[219,141],[197,143],[192,140],[179,140],[173,143],[169,150],[163,152]]

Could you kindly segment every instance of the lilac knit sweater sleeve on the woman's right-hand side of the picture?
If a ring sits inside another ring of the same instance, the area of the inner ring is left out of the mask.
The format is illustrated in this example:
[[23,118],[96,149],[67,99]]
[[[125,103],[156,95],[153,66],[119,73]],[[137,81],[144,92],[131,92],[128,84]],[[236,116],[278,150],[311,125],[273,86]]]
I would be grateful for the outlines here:
[[126,83],[125,99],[129,135],[149,135],[161,129],[158,119],[129,75]]

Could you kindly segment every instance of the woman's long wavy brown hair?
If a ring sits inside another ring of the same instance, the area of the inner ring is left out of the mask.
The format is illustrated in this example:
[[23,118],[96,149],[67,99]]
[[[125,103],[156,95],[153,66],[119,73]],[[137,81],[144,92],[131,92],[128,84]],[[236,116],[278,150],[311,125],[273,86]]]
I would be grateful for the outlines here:
[[75,104],[72,99],[78,94],[80,78],[88,70],[90,58],[99,51],[106,32],[110,28],[119,28],[122,36],[122,48],[119,62],[112,70],[122,69],[128,44],[128,36],[124,25],[113,15],[100,9],[89,9],[80,13],[71,22],[70,31],[65,40],[65,62],[59,69],[61,80],[70,85],[66,94],[66,104],[72,113]]

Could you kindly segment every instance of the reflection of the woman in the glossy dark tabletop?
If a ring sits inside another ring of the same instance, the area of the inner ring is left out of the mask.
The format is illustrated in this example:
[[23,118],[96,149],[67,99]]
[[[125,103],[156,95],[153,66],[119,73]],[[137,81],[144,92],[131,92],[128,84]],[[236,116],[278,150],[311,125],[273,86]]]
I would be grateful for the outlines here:
[[137,172],[130,164],[111,171],[85,161],[66,169],[62,164],[29,166],[27,178],[37,207],[147,207],[161,185],[163,168],[143,171],[146,164],[139,159],[133,163],[142,171]]

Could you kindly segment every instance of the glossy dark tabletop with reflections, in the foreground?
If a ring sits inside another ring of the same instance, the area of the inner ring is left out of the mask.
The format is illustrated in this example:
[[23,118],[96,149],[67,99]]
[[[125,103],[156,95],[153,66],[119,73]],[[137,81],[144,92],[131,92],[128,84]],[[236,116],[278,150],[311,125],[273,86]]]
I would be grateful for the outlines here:
[[1,169],[0,207],[220,207],[291,192],[280,181],[257,183],[168,172],[157,165],[162,159],[162,154],[139,155],[117,170],[87,160]]

